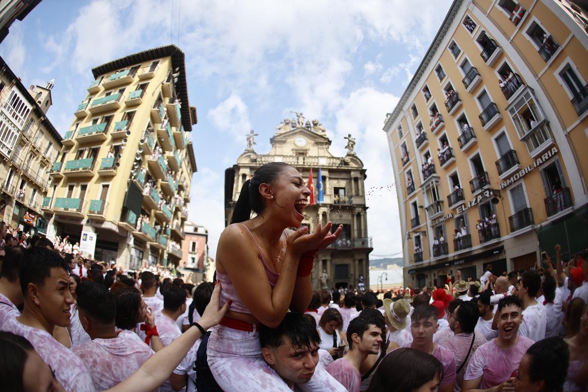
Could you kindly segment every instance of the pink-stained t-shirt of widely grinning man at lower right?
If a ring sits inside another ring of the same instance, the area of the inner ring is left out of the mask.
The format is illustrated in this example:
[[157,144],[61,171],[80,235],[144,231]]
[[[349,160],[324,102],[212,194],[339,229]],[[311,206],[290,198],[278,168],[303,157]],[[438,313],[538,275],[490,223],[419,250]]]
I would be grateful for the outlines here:
[[503,383],[513,371],[519,368],[524,353],[535,343],[527,337],[519,336],[512,347],[505,349],[500,347],[497,341],[492,339],[478,347],[467,364],[463,380],[475,380],[482,377],[479,389],[493,388]]

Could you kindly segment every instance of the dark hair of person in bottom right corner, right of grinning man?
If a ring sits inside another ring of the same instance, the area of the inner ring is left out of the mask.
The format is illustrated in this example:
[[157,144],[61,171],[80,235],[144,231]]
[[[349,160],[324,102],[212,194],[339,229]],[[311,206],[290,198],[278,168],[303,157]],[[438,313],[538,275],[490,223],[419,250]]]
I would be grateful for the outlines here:
[[529,378],[544,381],[542,391],[562,391],[566,381],[570,350],[559,336],[539,340],[529,347]]

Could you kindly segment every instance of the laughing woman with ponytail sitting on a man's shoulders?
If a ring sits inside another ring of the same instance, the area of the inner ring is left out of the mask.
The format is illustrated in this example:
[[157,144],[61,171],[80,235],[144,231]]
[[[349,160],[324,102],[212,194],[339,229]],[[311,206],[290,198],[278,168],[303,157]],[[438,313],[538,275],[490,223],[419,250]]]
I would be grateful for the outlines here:
[[[342,226],[317,225],[314,233],[300,227],[310,190],[298,170],[283,162],[259,167],[243,184],[231,225],[220,235],[216,278],[221,303],[230,311],[212,329],[208,365],[225,392],[290,391],[266,363],[259,325],[279,326],[286,311],[304,312],[312,295],[313,259],[339,237]],[[256,213],[250,219],[252,210]],[[324,368],[298,387],[303,391],[344,391]]]

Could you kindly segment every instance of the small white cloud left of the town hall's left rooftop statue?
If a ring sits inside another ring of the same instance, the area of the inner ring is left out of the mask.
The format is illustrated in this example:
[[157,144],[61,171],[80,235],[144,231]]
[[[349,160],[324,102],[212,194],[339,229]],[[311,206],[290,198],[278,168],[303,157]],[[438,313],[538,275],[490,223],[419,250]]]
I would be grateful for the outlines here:
[[216,128],[236,139],[244,138],[245,133],[251,129],[247,105],[234,91],[216,108],[209,110],[208,118]]

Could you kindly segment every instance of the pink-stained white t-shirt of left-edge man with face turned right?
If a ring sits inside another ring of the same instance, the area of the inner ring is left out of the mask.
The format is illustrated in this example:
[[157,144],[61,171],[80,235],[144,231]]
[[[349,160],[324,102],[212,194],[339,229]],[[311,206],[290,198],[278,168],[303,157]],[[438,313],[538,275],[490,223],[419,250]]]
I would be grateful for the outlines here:
[[66,391],[95,391],[86,365],[47,331],[25,326],[16,319],[9,320],[1,327],[4,331],[20,335],[30,341],[41,359],[55,371],[55,377]]

